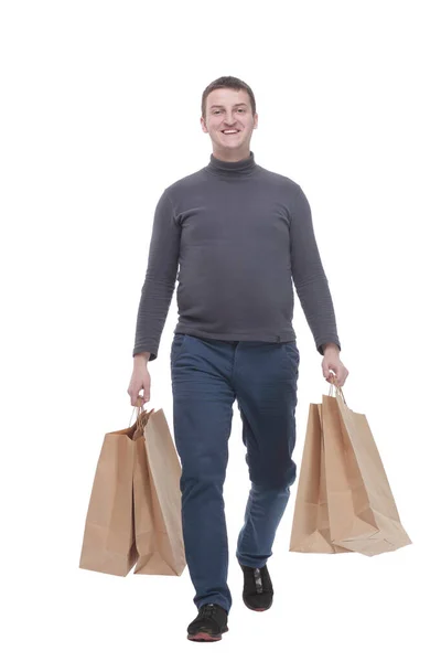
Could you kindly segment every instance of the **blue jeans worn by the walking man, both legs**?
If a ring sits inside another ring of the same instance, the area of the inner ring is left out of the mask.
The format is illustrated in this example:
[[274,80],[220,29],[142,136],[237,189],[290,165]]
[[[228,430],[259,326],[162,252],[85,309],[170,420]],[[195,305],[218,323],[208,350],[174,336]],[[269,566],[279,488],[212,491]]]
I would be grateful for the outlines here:
[[251,482],[236,557],[258,568],[272,555],[297,474],[291,455],[299,360],[294,340],[225,341],[185,333],[173,338],[170,364],[182,466],[182,527],[197,609],[216,602],[229,612],[233,602],[223,488],[236,398]]

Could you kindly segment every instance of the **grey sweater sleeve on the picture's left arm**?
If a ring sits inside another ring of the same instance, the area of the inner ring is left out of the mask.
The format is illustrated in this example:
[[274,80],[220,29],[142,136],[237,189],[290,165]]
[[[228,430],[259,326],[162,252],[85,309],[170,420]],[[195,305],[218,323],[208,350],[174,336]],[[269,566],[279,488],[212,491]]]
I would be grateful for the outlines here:
[[176,284],[181,225],[172,201],[163,191],[158,201],[149,259],[138,308],[132,355],[150,352],[150,361],[158,356],[159,343]]

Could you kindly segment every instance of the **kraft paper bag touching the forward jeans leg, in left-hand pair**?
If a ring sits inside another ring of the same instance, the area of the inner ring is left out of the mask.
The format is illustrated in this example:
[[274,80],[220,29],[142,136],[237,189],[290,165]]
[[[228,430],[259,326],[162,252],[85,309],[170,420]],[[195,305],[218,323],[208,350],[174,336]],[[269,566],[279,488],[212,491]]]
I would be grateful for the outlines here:
[[136,435],[133,574],[182,575],[181,465],[162,409],[149,413]]

